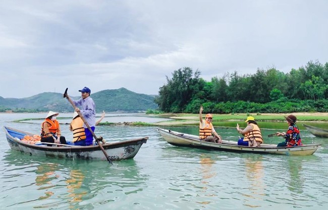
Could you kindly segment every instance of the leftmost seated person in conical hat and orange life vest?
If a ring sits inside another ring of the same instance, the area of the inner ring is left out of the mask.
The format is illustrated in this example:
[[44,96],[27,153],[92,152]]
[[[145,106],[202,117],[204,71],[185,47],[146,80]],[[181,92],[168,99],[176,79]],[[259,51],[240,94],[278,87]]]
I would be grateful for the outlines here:
[[66,139],[61,136],[61,128],[56,117],[59,113],[50,111],[41,124],[41,142],[66,144]]

